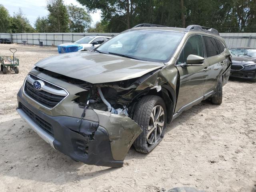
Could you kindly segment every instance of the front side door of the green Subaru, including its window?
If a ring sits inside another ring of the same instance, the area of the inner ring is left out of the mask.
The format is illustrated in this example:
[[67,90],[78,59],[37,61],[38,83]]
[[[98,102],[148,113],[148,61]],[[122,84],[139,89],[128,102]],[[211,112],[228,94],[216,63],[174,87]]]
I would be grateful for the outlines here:
[[182,112],[194,104],[201,102],[205,92],[205,85],[208,79],[206,71],[208,64],[202,66],[182,66],[186,64],[186,58],[190,55],[204,57],[203,43],[200,35],[193,35],[187,40],[176,67],[180,74],[180,88],[175,112]]

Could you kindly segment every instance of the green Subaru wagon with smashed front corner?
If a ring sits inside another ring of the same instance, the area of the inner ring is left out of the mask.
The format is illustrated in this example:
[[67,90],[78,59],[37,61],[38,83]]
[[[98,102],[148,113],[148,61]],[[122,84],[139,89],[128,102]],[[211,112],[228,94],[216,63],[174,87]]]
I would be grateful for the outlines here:
[[121,167],[132,145],[150,152],[184,110],[206,99],[221,104],[230,64],[213,28],[139,24],[92,51],[36,63],[17,112],[72,159]]

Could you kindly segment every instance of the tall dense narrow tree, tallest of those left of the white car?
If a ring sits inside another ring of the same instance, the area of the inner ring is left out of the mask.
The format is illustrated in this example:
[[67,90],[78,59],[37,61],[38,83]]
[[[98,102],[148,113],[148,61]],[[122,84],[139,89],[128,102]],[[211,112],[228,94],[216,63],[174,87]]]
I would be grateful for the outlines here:
[[50,0],[47,4],[49,11],[49,31],[48,32],[69,32],[68,11],[63,0]]

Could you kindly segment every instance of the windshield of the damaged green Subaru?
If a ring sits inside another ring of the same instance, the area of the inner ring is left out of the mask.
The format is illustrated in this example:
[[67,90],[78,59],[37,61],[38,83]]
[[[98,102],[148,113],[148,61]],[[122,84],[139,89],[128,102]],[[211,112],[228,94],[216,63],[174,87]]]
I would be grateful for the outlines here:
[[183,33],[160,30],[131,30],[121,33],[96,50],[151,62],[167,62]]

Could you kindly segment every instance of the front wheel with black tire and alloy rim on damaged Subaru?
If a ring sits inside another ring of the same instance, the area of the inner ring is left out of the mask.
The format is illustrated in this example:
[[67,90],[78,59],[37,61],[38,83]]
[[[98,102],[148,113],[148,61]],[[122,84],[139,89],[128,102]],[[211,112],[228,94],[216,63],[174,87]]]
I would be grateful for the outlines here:
[[[159,113],[160,116],[158,116]],[[137,103],[133,120],[138,123],[143,130],[134,141],[134,148],[137,152],[149,153],[162,140],[166,129],[166,115],[167,112],[164,100],[159,96],[144,96]],[[155,121],[153,120],[153,116],[159,118]],[[150,134],[148,135],[149,131]]]

